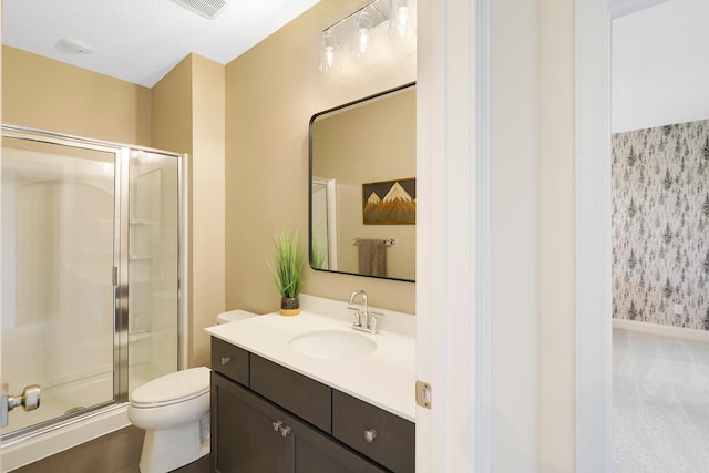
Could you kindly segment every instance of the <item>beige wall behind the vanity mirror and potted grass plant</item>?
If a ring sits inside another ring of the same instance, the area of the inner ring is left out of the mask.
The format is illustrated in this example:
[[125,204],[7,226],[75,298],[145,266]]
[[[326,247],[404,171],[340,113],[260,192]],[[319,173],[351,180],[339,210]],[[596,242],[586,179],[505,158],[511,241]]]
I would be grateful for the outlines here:
[[[310,116],[415,79],[415,63],[357,76],[318,71],[320,31],[361,7],[322,0],[226,66],[226,307],[267,312],[279,297],[268,274],[271,234],[308,235]],[[306,269],[304,292],[345,300],[356,289],[370,304],[414,311],[415,285]]]

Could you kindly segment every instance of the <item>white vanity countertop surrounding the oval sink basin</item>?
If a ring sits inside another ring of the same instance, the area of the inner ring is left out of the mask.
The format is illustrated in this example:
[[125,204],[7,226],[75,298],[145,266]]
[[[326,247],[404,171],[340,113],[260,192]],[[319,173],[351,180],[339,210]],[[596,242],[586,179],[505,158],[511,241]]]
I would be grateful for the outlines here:
[[357,333],[377,342],[354,359],[323,360],[297,352],[294,337],[312,330],[353,331],[350,321],[302,310],[298,316],[268,313],[206,329],[212,336],[289,368],[308,378],[415,421],[415,339],[387,330]]

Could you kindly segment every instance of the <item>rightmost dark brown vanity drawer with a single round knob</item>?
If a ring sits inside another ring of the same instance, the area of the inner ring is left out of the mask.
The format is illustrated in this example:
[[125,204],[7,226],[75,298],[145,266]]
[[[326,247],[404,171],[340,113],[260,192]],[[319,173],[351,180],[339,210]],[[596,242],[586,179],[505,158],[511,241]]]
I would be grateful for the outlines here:
[[[366,432],[376,431],[368,441]],[[332,390],[332,435],[394,472],[415,470],[415,424]]]

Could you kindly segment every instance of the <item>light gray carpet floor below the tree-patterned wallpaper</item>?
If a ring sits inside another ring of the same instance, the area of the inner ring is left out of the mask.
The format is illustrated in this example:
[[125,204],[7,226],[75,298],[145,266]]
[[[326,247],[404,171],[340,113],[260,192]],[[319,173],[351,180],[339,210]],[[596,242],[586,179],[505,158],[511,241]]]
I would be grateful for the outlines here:
[[616,473],[709,472],[709,343],[613,330]]

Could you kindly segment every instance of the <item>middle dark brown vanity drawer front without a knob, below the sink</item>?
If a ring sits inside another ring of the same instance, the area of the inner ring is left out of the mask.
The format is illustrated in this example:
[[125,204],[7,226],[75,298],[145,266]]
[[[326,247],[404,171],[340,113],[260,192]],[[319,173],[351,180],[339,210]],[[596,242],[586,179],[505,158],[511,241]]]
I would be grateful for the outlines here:
[[332,389],[251,353],[251,389],[318,429],[332,431]]

